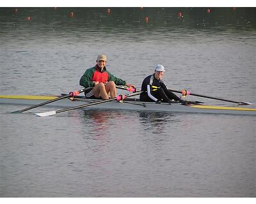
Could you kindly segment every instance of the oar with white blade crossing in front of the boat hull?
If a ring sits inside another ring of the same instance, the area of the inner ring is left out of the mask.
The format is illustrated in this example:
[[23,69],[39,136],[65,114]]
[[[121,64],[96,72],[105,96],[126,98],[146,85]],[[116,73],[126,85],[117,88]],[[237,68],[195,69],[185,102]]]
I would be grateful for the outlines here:
[[139,95],[141,94],[142,91],[140,92],[135,92],[135,93],[132,93],[132,94],[127,94],[127,95],[120,95],[120,96],[117,96],[116,98],[111,98],[111,99],[106,99],[106,100],[102,100],[102,101],[97,101],[95,103],[88,103],[88,104],[84,104],[84,105],[79,105],[79,106],[74,106],[74,107],[71,107],[71,108],[64,108],[64,109],[61,109],[61,110],[56,110],[56,111],[50,111],[50,112],[44,112],[44,113],[35,113],[36,115],[38,116],[50,116],[50,115],[55,115],[56,113],[61,113],[61,112],[65,112],[65,111],[68,111],[68,110],[75,110],[77,108],[84,108],[84,107],[87,107],[87,106],[92,106],[92,105],[97,105],[97,104],[100,104],[100,103],[106,103],[106,102],[109,102],[109,101],[120,101],[124,98],[128,98],[128,97],[131,97],[131,96],[136,96],[136,95]]

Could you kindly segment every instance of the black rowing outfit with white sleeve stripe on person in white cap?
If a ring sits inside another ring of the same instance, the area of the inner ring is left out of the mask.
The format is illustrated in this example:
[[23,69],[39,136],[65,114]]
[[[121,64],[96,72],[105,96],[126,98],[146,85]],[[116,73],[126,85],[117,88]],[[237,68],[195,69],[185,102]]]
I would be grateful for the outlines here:
[[[154,89],[152,86],[160,87],[160,89]],[[181,99],[168,90],[167,85],[163,80],[157,80],[155,75],[149,75],[146,77],[141,85],[140,101],[156,101],[170,103],[172,99],[175,101],[181,101]]]

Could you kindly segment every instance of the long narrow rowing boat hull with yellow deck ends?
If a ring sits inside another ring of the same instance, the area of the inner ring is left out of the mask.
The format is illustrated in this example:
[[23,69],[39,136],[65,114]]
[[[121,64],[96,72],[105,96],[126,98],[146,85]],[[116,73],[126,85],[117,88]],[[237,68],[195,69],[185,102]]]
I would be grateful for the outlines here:
[[[44,101],[49,101],[60,96],[0,96],[1,104],[14,105],[37,105]],[[70,99],[61,99],[45,106],[55,107],[74,107],[89,103],[101,101],[99,99],[86,99],[83,96],[76,96],[74,101]],[[209,105],[181,105],[180,103],[152,103],[141,102],[135,98],[126,98],[124,102],[109,101],[99,105],[88,106],[85,109],[113,109],[113,110],[140,110],[150,112],[186,112],[186,113],[223,113],[238,115],[256,115],[256,108],[242,108],[240,106],[209,106]]]

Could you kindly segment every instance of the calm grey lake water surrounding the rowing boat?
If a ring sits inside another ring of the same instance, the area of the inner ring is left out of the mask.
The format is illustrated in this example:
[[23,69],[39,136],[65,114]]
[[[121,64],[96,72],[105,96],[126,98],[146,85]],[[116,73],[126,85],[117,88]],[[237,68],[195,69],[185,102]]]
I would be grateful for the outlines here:
[[[81,89],[105,53],[109,71],[138,87],[161,63],[172,89],[256,103],[255,8],[0,10],[2,95]],[[25,107],[0,105],[1,197],[256,196],[255,117],[8,114]]]

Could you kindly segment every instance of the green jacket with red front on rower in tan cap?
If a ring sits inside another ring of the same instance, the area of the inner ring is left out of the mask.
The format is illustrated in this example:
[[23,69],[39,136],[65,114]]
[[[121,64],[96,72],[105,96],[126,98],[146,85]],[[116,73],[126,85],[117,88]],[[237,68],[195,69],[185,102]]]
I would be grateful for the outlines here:
[[102,82],[106,83],[109,81],[115,82],[116,85],[125,85],[126,82],[121,78],[117,78],[107,71],[106,67],[100,71],[98,66],[93,66],[92,68],[86,69],[84,75],[81,77],[79,84],[84,88],[93,87],[93,82]]

